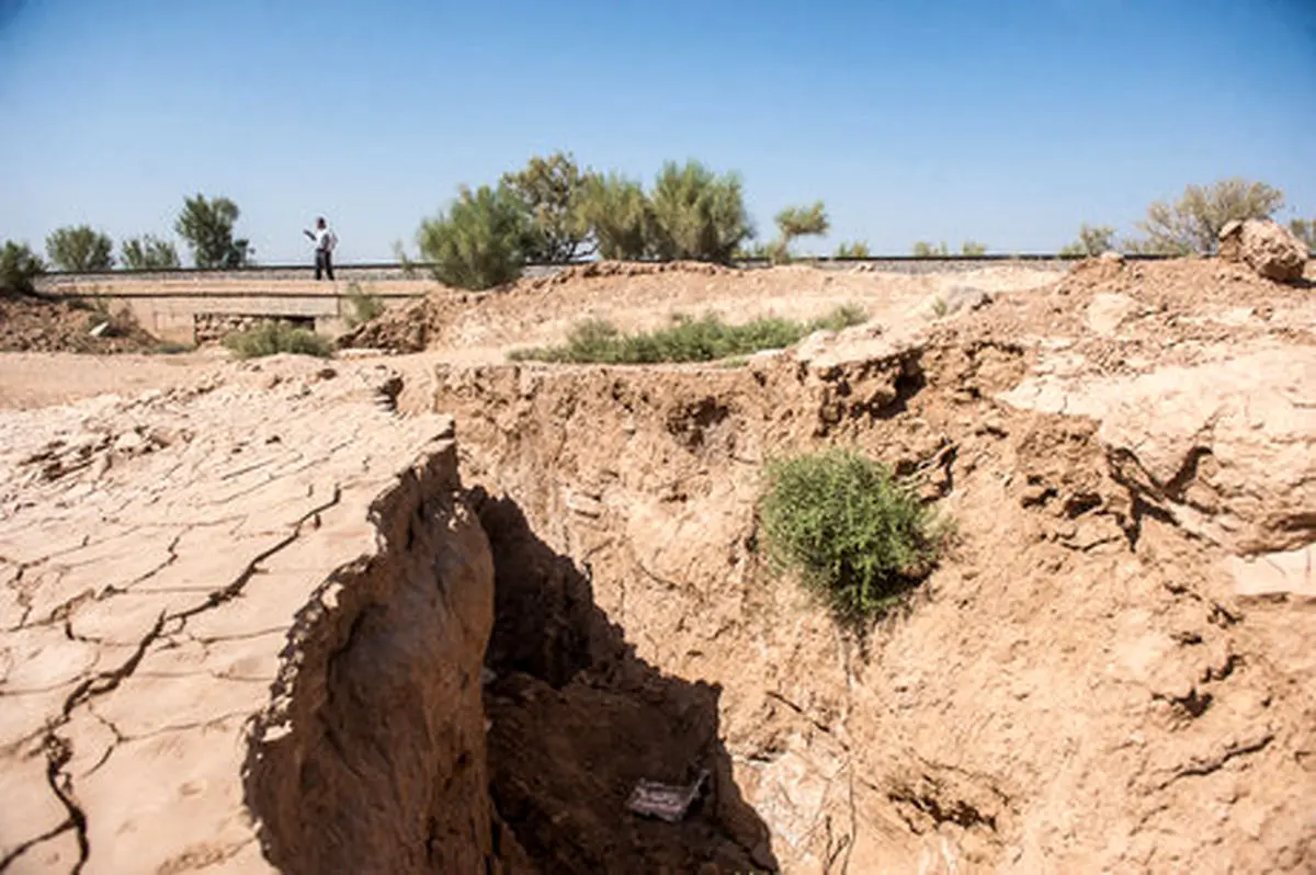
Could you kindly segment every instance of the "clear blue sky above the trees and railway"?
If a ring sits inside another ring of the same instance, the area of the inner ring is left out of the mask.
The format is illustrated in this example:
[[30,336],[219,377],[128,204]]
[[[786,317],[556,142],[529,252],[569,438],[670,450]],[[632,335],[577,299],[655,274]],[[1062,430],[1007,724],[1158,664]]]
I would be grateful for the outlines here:
[[741,172],[762,236],[1054,250],[1242,175],[1316,216],[1311,0],[0,0],[0,238],[171,234],[226,195],[265,263],[413,251],[534,153]]

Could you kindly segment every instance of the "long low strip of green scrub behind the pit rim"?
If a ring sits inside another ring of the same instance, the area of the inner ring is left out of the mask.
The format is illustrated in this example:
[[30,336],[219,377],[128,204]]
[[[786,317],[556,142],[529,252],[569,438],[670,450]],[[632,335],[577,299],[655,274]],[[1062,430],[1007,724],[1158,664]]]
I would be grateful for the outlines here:
[[769,317],[744,325],[728,325],[720,316],[709,313],[697,320],[678,316],[669,328],[638,334],[622,334],[608,322],[590,320],[576,325],[562,346],[519,350],[509,358],[578,364],[715,362],[791,346],[813,332],[840,330],[866,318],[867,313],[854,305],[838,307],[812,322]]

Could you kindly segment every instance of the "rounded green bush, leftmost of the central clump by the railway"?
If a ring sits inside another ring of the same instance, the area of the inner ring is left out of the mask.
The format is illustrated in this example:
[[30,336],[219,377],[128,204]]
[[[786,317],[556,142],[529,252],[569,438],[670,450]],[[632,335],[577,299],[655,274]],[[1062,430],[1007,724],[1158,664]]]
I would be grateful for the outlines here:
[[517,197],[500,186],[465,186],[446,213],[421,222],[416,243],[445,286],[483,289],[511,283],[525,266],[529,233]]

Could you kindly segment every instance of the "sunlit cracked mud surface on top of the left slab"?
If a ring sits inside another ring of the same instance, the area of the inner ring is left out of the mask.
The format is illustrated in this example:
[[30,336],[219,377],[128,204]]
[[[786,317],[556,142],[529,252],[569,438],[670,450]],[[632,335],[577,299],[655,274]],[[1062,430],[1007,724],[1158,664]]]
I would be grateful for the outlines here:
[[268,867],[245,726],[297,609],[375,550],[370,503],[449,428],[378,383],[272,362],[0,420],[0,871]]

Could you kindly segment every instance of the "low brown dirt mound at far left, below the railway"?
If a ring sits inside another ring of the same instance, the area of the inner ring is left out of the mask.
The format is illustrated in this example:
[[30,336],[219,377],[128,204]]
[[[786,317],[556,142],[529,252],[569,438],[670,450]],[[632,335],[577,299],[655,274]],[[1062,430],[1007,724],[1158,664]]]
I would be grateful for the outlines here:
[[[92,334],[108,324],[104,333]],[[137,322],[42,297],[0,296],[0,351],[141,353],[158,345]]]

